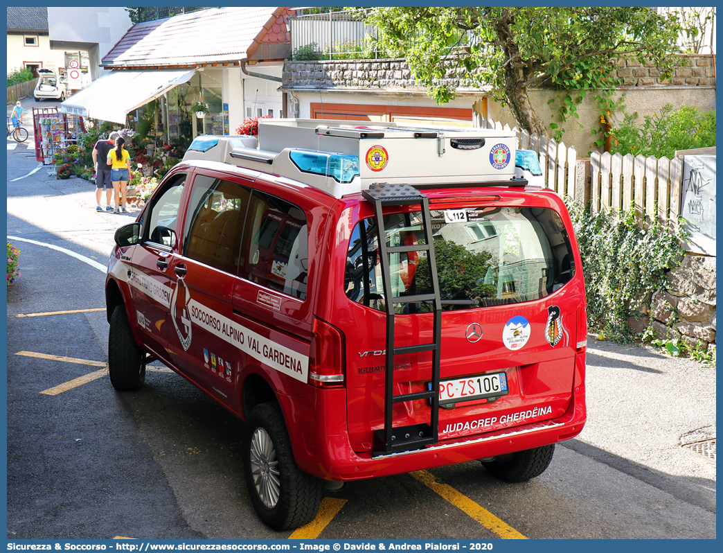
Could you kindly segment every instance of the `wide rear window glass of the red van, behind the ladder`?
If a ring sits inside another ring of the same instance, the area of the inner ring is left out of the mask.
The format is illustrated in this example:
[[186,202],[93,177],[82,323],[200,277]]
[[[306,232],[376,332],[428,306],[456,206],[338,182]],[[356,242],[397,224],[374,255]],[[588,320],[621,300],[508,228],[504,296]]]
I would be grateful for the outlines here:
[[[575,274],[570,240],[549,208],[479,207],[432,210],[432,235],[442,308],[479,308],[537,300]],[[424,243],[419,211],[384,216],[387,246]],[[432,291],[424,252],[390,253],[395,297]],[[354,227],[346,260],[346,295],[384,311],[375,219]],[[429,304],[400,303],[398,313],[430,311]]]

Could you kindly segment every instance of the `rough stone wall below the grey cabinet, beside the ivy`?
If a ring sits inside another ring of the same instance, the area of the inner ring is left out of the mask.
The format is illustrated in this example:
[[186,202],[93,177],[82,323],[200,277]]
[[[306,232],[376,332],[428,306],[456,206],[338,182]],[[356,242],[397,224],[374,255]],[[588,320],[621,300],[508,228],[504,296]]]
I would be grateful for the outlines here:
[[656,292],[642,318],[630,318],[636,332],[652,328],[662,339],[679,338],[702,350],[716,344],[716,258],[688,254],[667,274],[667,292]]

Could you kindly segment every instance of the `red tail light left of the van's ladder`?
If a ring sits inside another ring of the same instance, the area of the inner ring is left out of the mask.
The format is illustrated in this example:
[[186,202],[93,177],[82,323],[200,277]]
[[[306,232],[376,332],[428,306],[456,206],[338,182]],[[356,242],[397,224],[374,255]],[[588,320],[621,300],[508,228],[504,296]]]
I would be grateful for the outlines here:
[[339,329],[314,319],[309,357],[309,384],[319,388],[344,385],[344,335]]

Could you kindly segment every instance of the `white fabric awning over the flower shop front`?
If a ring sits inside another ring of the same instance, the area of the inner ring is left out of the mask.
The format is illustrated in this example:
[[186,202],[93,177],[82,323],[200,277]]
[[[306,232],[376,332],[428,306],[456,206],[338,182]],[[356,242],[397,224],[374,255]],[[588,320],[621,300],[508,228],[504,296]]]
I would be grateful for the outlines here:
[[114,71],[103,75],[60,105],[63,113],[125,124],[129,111],[187,82],[195,69]]

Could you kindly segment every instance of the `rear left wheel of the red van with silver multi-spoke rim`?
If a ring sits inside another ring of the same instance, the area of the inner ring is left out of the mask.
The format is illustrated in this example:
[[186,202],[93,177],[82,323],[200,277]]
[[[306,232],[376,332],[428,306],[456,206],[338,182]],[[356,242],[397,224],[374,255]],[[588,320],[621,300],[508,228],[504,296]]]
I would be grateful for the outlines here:
[[299,528],[319,512],[322,481],[299,469],[281,408],[257,405],[244,428],[244,474],[259,518],[277,531]]

